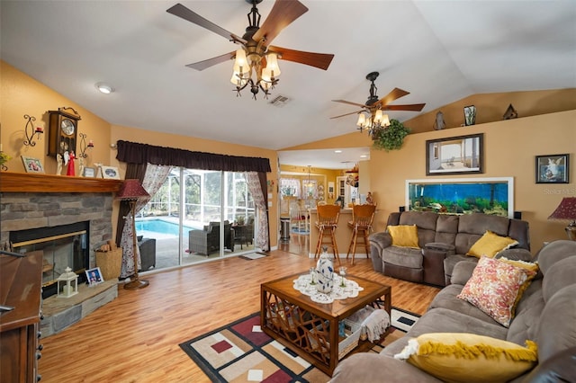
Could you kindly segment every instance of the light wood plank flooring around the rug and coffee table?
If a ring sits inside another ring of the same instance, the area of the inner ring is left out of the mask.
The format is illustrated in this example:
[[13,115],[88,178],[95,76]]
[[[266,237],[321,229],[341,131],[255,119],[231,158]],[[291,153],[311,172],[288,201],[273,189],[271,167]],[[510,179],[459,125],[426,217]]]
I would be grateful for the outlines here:
[[[40,340],[41,382],[209,382],[178,344],[258,311],[260,283],[315,263],[277,250],[253,261],[234,257],[146,275],[145,289],[120,285],[111,303]],[[392,306],[415,313],[424,313],[439,290],[374,272],[365,255],[343,263],[349,274],[391,285]]]

